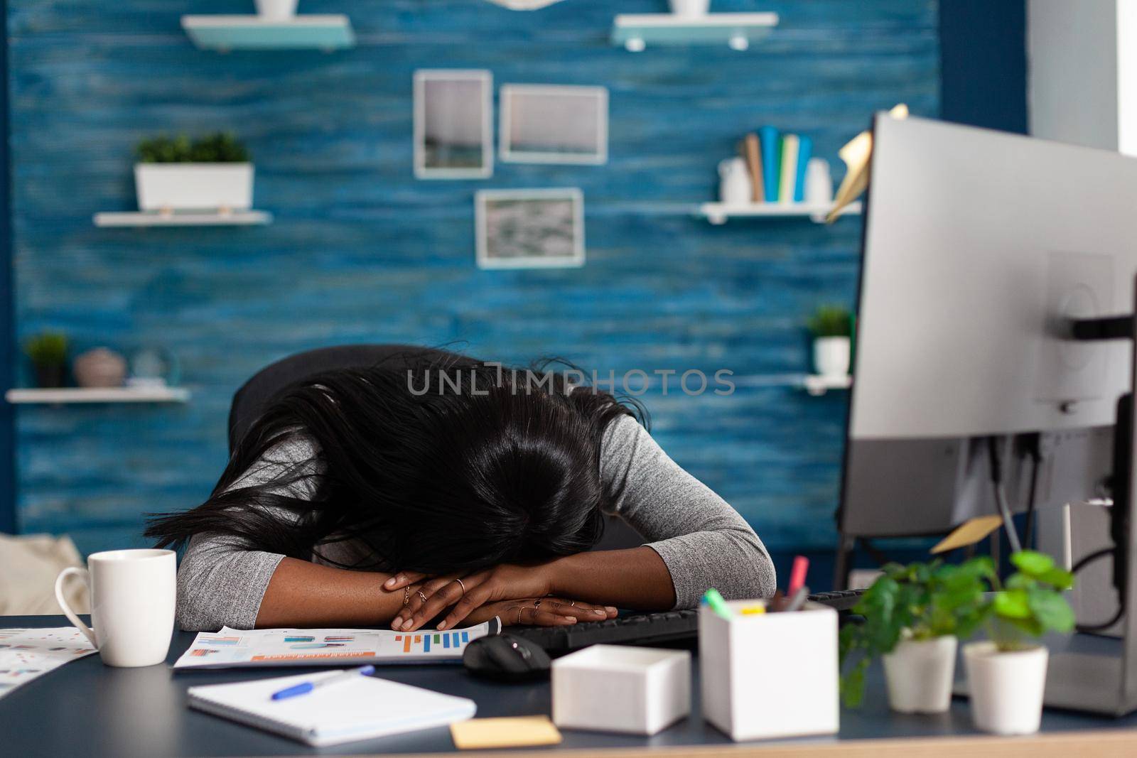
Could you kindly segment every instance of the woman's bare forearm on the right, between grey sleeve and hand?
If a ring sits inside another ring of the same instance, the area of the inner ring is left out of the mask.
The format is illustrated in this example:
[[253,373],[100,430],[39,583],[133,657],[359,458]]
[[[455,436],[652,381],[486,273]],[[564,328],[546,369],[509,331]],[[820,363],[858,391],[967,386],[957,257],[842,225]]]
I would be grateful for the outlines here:
[[598,550],[546,564],[553,594],[634,610],[675,606],[671,572],[652,548]]

